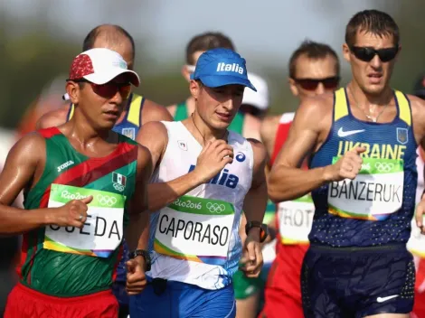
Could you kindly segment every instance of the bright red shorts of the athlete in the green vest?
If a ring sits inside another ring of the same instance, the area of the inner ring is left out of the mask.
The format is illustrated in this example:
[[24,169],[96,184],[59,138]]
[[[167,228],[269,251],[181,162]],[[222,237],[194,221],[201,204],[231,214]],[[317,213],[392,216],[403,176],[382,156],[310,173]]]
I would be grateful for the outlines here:
[[44,295],[17,284],[7,297],[5,318],[117,318],[118,302],[107,290],[79,297]]

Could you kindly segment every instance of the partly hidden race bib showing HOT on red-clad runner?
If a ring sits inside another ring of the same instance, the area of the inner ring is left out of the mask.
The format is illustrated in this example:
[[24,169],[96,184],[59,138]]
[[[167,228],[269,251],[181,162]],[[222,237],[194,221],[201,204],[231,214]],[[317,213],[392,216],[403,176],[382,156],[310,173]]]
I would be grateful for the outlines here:
[[279,233],[282,244],[307,244],[313,223],[315,204],[307,194],[293,201],[279,203]]

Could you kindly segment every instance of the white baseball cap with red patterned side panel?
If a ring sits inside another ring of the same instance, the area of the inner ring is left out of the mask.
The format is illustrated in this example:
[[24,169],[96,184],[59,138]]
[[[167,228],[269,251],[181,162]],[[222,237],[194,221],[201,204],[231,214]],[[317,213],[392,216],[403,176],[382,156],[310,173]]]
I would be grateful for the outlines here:
[[97,48],[83,51],[71,64],[69,80],[87,79],[98,85],[106,84],[120,74],[128,74],[131,84],[138,86],[137,73],[127,69],[127,63],[116,51]]

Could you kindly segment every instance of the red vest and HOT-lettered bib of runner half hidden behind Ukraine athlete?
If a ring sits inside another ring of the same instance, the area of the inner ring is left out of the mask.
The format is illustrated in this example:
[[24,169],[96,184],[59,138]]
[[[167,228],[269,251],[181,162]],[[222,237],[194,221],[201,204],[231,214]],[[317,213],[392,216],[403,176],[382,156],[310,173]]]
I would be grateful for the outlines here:
[[[289,127],[294,117],[295,113],[285,113],[280,117],[270,164],[274,163],[280,149],[285,144]],[[311,195],[307,194],[296,200],[280,202],[277,205],[277,210],[278,239],[280,243],[283,245],[302,244],[307,246],[308,233],[310,232],[315,212]]]

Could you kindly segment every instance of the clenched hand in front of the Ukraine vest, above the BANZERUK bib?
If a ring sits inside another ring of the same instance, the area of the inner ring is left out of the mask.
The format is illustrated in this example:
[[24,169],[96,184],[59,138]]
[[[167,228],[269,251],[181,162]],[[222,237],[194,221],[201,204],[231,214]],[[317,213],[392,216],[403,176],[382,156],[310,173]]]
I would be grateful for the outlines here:
[[365,151],[365,147],[355,147],[346,152],[335,164],[326,166],[326,181],[338,182],[344,179],[353,180],[362,169],[363,159],[360,157],[360,154]]

